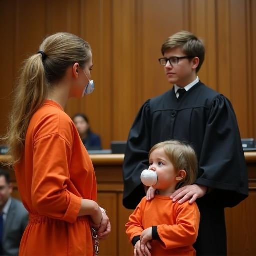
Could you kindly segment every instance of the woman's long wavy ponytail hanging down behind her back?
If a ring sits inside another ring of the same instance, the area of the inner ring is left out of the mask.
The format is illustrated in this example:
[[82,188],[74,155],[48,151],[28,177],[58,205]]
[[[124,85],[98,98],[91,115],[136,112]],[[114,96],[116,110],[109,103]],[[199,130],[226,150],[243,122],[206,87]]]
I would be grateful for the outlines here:
[[47,85],[42,56],[37,53],[24,62],[18,86],[14,91],[8,132],[3,138],[12,156],[7,165],[13,165],[20,160],[29,121],[43,104],[46,95]]

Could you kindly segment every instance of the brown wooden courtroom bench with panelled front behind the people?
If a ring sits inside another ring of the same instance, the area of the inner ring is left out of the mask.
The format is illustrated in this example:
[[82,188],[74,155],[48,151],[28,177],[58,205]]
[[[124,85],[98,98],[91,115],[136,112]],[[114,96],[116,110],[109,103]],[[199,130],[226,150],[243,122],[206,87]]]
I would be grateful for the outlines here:
[[[133,247],[128,242],[124,225],[132,210],[122,206],[122,162],[123,154],[90,155],[97,177],[98,203],[107,210],[112,232],[105,241],[100,241],[101,256],[131,256]],[[8,156],[0,155],[0,162]],[[256,255],[256,152],[245,152],[249,176],[249,197],[234,208],[226,209],[228,255]],[[13,196],[19,198],[14,171]],[[210,230],[209,230],[210,231]]]

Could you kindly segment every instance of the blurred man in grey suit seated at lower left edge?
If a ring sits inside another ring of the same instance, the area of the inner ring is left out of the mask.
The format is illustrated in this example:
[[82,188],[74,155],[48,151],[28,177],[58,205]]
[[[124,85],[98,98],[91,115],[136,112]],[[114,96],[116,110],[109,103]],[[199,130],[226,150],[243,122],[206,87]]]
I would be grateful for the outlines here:
[[18,255],[21,237],[28,223],[23,204],[11,197],[9,171],[0,169],[0,255]]

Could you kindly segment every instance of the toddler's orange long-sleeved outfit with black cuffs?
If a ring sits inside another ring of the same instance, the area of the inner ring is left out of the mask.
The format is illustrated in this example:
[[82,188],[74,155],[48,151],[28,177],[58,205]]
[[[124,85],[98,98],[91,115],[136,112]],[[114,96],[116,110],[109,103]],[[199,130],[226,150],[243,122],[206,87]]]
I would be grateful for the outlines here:
[[173,203],[169,196],[142,198],[126,223],[130,242],[148,227],[157,226],[159,240],[152,240],[152,256],[195,255],[193,243],[198,235],[200,212],[196,203]]

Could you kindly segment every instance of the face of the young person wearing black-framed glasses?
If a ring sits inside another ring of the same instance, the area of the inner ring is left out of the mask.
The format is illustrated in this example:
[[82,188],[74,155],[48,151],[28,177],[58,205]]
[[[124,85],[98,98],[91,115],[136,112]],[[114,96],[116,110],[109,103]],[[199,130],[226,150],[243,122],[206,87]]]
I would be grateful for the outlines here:
[[[186,54],[179,48],[168,49],[163,55],[165,58],[170,57],[183,57]],[[164,66],[164,71],[167,76],[168,82],[176,84],[183,88],[190,82],[196,79],[196,67],[199,64],[199,58],[194,57],[193,59],[183,58],[179,59],[177,65],[171,65],[169,61]]]

